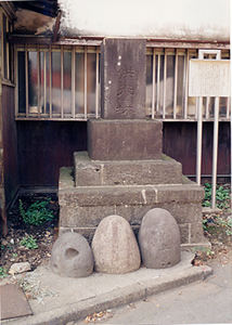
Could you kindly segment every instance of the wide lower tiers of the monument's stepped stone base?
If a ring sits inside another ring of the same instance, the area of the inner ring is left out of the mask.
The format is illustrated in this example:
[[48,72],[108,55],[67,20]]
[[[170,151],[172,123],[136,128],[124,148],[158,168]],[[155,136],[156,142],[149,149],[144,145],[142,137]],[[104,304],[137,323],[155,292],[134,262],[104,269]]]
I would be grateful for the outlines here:
[[[150,209],[163,208],[176,219],[182,247],[208,246],[202,225],[203,187],[186,178],[181,179],[180,165],[172,159],[151,160],[149,165],[143,160],[129,162],[125,164],[128,164],[127,168],[131,172],[120,173],[119,162],[92,161],[87,154],[82,153],[75,154],[75,170],[61,168],[60,234],[74,231],[91,242],[101,220],[111,214],[124,217],[137,234],[144,214]],[[126,165],[123,164],[123,171],[127,170]],[[153,183],[147,184],[145,173],[144,180],[143,176],[138,176],[138,166],[141,173],[145,167],[146,171],[164,168],[163,176],[158,176],[164,177],[164,183],[162,184],[159,179],[160,182],[157,184],[151,172],[150,180]],[[168,168],[176,174],[172,176],[172,184],[165,183]],[[164,176],[165,170],[166,176]]]

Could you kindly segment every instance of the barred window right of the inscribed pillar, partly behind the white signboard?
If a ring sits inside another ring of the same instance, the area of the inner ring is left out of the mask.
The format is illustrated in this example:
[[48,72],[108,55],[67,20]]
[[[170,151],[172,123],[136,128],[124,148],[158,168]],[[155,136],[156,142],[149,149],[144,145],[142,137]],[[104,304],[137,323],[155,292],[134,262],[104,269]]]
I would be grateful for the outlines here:
[[[196,99],[188,95],[189,61],[197,57],[194,49],[147,49],[147,116],[165,120],[197,118]],[[229,50],[222,51],[221,57],[230,58]],[[220,98],[220,119],[229,120],[229,104],[228,98]],[[215,99],[203,99],[205,119],[214,118],[214,105]]]

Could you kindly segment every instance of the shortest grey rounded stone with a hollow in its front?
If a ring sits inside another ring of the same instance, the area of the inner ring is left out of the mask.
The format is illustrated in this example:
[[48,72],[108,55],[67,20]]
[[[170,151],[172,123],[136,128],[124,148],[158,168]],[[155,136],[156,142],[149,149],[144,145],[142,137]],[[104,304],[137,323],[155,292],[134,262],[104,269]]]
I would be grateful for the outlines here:
[[89,276],[93,271],[93,255],[87,239],[78,233],[62,234],[52,247],[50,265],[61,276]]

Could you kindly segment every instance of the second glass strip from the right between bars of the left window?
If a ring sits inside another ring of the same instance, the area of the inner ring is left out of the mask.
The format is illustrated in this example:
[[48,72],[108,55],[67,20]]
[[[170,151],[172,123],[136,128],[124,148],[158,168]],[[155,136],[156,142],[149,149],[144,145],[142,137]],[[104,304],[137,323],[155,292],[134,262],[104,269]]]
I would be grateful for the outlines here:
[[75,113],[83,114],[83,53],[75,53]]

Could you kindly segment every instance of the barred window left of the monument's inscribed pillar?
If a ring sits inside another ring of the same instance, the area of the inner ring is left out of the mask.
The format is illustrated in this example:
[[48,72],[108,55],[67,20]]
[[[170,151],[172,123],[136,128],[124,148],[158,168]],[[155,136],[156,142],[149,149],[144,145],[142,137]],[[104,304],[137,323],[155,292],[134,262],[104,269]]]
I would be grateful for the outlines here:
[[95,47],[17,48],[16,118],[99,117],[99,61]]

